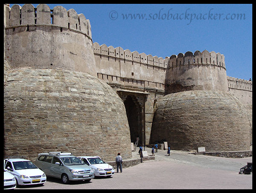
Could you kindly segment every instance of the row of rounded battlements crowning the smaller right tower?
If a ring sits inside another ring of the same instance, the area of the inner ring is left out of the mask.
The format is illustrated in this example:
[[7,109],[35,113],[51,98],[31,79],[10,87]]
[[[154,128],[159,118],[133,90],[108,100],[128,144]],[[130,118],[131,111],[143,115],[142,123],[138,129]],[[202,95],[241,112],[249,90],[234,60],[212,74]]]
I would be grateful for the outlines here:
[[212,65],[218,66],[220,68],[226,69],[224,55],[212,51],[208,52],[204,50],[203,52],[195,51],[186,52],[185,54],[179,53],[178,55],[172,55],[169,59],[167,68],[181,68],[181,66],[188,65]]

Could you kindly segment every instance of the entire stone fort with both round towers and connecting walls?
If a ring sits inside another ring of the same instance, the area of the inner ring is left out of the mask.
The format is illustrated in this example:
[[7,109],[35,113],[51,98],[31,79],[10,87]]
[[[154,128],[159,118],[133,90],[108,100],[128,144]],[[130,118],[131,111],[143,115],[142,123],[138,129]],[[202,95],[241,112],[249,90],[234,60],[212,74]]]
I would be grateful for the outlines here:
[[[4,156],[62,150],[113,161],[117,152],[131,156],[137,133],[140,144],[167,138],[177,149],[247,150],[252,81],[227,77],[224,55],[163,59],[91,37],[90,21],[74,9],[4,4]],[[125,98],[136,111],[125,113]],[[127,119],[137,121],[133,129]]]

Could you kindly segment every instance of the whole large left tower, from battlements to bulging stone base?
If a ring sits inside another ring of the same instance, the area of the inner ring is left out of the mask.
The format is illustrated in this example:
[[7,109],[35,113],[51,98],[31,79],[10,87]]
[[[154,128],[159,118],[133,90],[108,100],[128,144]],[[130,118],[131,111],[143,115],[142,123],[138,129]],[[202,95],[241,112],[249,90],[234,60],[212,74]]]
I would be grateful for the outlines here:
[[90,21],[74,9],[4,6],[4,156],[131,158],[125,106],[96,78]]

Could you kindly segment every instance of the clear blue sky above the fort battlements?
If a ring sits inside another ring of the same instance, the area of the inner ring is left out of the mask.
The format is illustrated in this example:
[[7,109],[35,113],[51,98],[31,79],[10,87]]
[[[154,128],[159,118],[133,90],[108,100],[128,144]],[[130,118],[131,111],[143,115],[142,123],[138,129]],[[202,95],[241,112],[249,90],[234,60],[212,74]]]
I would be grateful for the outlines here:
[[48,4],[50,9],[57,5],[83,13],[93,42],[100,45],[162,58],[220,52],[228,76],[253,78],[251,4]]

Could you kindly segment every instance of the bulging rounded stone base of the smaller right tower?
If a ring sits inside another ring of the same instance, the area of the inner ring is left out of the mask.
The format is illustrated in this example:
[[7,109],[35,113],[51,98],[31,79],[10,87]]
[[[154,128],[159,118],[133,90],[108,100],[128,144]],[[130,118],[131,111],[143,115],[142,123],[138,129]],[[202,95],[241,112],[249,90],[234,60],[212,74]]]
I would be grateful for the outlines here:
[[168,94],[157,101],[151,141],[167,141],[172,150],[250,150],[251,125],[245,112],[244,105],[227,92]]

